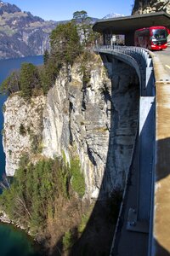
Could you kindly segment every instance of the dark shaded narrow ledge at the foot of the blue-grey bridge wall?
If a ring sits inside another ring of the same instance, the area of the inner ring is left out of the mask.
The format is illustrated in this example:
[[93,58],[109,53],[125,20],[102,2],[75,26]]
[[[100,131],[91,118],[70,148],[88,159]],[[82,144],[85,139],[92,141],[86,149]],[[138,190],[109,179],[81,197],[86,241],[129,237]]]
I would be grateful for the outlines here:
[[139,165],[139,143],[137,143],[133,164],[130,168],[130,175],[127,182],[122,214],[117,228],[115,245],[110,256],[146,256],[148,251],[148,234],[132,232],[127,230],[127,215],[129,208],[137,209],[138,201],[138,172]]

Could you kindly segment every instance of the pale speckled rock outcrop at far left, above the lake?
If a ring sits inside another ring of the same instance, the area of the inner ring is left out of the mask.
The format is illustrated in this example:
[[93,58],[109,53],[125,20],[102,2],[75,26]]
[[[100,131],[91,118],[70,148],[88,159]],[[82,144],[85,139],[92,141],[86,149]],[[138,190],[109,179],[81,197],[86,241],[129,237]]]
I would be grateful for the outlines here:
[[45,97],[26,102],[19,95],[9,96],[4,104],[3,150],[6,155],[6,174],[14,176],[20,157],[34,155],[35,143],[42,137],[42,109]]

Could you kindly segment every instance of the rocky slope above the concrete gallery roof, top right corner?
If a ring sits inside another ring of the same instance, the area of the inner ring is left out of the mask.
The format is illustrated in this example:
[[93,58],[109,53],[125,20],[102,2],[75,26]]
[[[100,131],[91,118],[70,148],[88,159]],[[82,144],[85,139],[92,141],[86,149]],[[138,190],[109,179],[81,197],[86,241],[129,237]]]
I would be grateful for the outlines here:
[[169,0],[135,0],[133,6],[133,15],[149,14],[158,11],[165,11],[170,14]]

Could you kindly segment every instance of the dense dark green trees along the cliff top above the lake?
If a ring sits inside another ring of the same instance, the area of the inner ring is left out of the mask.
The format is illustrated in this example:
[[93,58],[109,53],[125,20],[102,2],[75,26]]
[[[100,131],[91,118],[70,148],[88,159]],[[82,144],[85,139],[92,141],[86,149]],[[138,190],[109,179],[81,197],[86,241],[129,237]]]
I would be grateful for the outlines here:
[[36,67],[23,63],[20,71],[10,74],[1,86],[1,92],[9,95],[20,91],[20,96],[29,100],[31,96],[46,95],[63,65],[72,65],[82,52],[77,26],[72,22],[57,26],[51,33],[51,53],[44,53],[44,65]]

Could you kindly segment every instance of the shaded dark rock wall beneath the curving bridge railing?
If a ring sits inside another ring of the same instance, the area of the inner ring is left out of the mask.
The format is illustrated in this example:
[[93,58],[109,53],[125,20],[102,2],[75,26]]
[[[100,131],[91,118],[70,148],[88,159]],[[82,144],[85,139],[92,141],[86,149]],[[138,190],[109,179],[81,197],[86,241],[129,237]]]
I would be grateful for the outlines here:
[[139,79],[135,71],[121,61],[113,61],[109,65],[112,81],[111,131],[103,181],[107,191],[117,185],[124,188],[139,118]]

